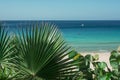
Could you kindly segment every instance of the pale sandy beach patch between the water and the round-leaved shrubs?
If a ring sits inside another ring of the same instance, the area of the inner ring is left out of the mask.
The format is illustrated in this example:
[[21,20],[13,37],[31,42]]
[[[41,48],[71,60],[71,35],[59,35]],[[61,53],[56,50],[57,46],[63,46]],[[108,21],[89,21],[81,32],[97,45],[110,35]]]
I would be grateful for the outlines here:
[[106,62],[108,67],[111,69],[109,58],[110,58],[110,52],[83,52],[81,53],[83,56],[90,54],[92,56],[99,55],[100,62]]

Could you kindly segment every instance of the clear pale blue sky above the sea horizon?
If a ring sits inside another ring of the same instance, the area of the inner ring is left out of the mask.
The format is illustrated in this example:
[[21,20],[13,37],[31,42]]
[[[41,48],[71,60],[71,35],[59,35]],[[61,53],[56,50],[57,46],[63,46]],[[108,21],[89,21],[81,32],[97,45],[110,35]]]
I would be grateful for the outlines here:
[[0,20],[120,20],[120,0],[0,0]]

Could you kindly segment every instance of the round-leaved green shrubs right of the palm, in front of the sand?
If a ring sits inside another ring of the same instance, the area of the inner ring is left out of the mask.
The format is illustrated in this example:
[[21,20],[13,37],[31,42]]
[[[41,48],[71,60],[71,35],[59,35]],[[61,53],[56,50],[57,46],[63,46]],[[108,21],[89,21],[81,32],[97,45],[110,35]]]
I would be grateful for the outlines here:
[[[77,52],[74,53],[74,57],[77,55]],[[80,62],[78,65],[79,75],[75,77],[76,80],[120,80],[120,53],[112,51],[109,59],[112,69],[110,69],[105,62],[97,61],[97,55],[79,56],[76,60]],[[91,68],[90,65],[92,65],[93,68]]]

